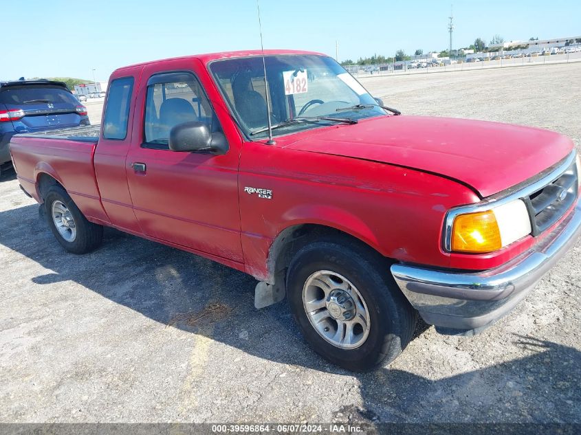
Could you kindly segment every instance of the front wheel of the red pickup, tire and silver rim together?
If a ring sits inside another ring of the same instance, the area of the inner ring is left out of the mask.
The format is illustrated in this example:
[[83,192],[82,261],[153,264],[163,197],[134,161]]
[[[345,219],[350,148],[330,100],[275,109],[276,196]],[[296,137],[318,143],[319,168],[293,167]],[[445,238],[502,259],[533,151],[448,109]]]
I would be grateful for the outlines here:
[[289,304],[305,339],[333,364],[354,371],[393,361],[410,341],[415,311],[384,258],[345,239],[301,249],[287,275]]

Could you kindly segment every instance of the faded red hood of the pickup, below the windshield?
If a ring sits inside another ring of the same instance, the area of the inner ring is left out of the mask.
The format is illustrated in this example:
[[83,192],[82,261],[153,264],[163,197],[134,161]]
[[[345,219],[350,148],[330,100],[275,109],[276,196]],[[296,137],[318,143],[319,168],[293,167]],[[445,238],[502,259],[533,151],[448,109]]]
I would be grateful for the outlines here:
[[[525,126],[454,118],[385,116],[300,134],[295,150],[381,161],[466,183],[482,197],[534,177],[573,149],[568,137]],[[298,135],[288,136],[296,138]]]

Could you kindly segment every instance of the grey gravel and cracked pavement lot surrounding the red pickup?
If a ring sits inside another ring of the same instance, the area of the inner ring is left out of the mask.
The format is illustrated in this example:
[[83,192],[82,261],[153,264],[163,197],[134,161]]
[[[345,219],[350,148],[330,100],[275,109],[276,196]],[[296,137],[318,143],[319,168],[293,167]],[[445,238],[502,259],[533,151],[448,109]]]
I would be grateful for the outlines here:
[[[581,144],[581,63],[362,83],[404,113],[540,126]],[[420,325],[391,366],[353,375],[306,346],[285,303],[256,311],[252,278],[115,230],[97,252],[66,254],[37,210],[4,175],[3,422],[581,423],[580,243],[481,335]],[[217,302],[215,322],[168,326]]]

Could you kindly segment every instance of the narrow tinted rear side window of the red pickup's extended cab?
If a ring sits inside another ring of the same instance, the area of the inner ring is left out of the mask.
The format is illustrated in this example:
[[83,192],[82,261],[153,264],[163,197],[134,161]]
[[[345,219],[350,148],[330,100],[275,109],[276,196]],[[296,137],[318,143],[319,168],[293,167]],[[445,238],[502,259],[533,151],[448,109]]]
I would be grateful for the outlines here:
[[109,85],[107,107],[103,119],[105,139],[124,140],[127,137],[133,82],[133,77],[124,77],[113,80]]

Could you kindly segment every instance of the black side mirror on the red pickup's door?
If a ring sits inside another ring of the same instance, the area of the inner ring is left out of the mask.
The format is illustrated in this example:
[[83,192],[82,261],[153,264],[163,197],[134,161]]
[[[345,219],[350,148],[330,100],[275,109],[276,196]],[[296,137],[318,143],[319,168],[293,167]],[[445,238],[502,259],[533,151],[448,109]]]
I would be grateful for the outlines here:
[[222,133],[211,133],[204,122],[183,122],[171,129],[169,149],[180,153],[226,154],[228,142]]

